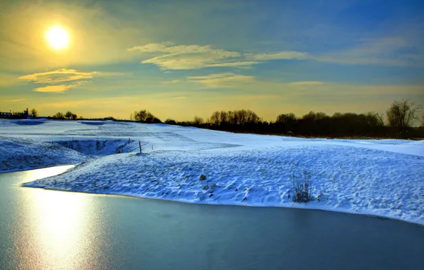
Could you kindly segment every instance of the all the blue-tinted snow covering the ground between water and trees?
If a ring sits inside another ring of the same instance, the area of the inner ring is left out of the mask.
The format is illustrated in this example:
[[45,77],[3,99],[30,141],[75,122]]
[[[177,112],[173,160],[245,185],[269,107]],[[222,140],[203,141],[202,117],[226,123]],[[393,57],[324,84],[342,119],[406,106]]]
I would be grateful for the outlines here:
[[[0,153],[0,171],[79,164],[24,184],[28,187],[332,210],[424,225],[424,141],[301,139],[166,124],[0,119]],[[311,175],[315,199],[292,202],[292,182],[304,172]]]

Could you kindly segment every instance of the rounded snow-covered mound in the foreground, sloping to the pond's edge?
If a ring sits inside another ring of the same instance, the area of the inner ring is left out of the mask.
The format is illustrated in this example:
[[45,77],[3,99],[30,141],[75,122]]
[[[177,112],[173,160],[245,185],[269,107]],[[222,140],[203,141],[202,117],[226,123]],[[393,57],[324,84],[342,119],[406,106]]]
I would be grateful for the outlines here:
[[[182,202],[304,207],[424,224],[423,158],[346,146],[230,153],[157,152],[106,156],[26,183],[57,190]],[[312,175],[315,198],[292,202],[292,180]],[[201,180],[200,175],[206,175]]]

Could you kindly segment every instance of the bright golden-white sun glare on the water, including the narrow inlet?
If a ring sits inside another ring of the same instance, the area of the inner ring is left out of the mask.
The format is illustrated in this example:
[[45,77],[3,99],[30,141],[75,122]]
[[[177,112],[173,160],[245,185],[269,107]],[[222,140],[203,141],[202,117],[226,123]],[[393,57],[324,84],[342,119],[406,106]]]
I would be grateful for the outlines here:
[[[34,170],[28,172],[25,180],[57,175],[66,169]],[[88,205],[92,200],[93,196],[87,194],[28,189],[22,202],[31,220],[32,233],[21,232],[21,245],[28,245],[21,266],[33,268],[36,262],[41,269],[83,269],[90,260],[95,260],[96,247],[92,245],[96,244],[88,236],[91,219]]]

